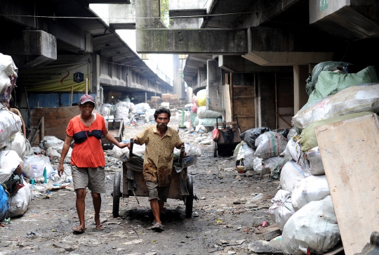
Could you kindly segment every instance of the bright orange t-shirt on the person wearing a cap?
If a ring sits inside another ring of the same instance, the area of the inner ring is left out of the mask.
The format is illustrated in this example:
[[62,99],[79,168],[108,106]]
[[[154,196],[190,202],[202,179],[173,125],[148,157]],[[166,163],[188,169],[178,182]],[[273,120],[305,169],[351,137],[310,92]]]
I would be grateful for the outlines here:
[[[105,127],[105,119],[99,114],[95,114],[95,121],[91,126],[86,126],[79,119],[79,115],[72,118],[66,129],[68,136],[74,136],[74,133],[80,131],[101,130],[102,133],[107,131]],[[74,149],[71,155],[71,164],[77,167],[105,166],[104,151],[101,142],[95,136],[87,136],[83,143],[74,143]]]

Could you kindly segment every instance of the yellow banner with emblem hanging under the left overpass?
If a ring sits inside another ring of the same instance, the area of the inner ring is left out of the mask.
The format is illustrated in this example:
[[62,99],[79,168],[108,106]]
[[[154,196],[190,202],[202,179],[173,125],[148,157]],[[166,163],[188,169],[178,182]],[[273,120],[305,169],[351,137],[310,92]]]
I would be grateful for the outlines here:
[[26,86],[27,91],[71,92],[86,90],[86,78],[89,84],[89,63],[57,63],[45,65],[33,70],[20,70],[17,84]]

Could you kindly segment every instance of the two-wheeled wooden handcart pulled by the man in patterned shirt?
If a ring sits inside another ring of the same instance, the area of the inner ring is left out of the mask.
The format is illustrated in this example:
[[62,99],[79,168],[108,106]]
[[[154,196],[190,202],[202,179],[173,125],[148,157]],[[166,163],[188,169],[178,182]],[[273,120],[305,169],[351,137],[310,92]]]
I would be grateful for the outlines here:
[[[131,149],[131,154],[133,154],[133,147]],[[142,166],[140,171],[133,171],[134,183],[136,185],[135,190],[128,190],[128,181],[130,181],[127,176],[128,166],[126,162],[122,164],[122,192],[121,192],[121,173],[117,172],[114,174],[114,185],[113,185],[113,210],[112,214],[114,217],[119,216],[119,205],[120,197],[149,197],[149,191],[145,181],[142,180]],[[194,201],[194,188],[192,182],[192,176],[187,174],[187,167],[182,169],[182,179],[187,185],[187,190],[189,195],[182,195],[180,190],[180,174],[175,171],[173,167],[171,173],[171,184],[170,189],[168,190],[168,198],[174,200],[183,200],[185,203],[185,217],[192,218],[192,207]]]

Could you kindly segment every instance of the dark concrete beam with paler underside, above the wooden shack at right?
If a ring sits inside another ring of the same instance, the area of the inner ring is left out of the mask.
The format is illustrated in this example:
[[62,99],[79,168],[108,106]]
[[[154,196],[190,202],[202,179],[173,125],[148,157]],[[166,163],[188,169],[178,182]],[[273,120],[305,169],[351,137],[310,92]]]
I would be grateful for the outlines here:
[[309,28],[250,27],[248,53],[243,57],[262,66],[307,65],[331,60],[330,45],[331,42],[326,44],[324,37],[318,38],[317,32]]

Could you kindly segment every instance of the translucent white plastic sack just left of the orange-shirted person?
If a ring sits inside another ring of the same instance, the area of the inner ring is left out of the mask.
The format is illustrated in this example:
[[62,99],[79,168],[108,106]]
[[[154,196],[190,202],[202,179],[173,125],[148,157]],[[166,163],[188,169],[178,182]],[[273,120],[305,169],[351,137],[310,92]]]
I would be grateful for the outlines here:
[[49,177],[54,170],[50,164],[50,159],[43,155],[27,156],[24,159],[24,172],[26,178],[35,178],[44,175],[44,169]]

